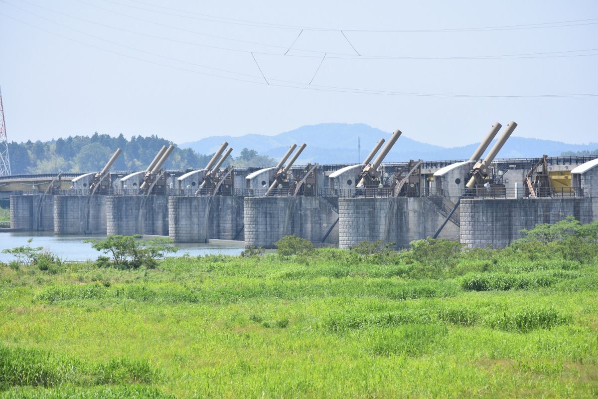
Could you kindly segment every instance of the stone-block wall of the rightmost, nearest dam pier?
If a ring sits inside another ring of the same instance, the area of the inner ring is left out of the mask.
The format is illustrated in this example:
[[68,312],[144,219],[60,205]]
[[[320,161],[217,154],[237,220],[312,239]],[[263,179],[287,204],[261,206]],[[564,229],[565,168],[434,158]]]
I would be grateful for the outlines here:
[[522,229],[556,223],[572,215],[581,223],[592,221],[588,198],[462,199],[461,242],[470,248],[505,248],[523,237]]

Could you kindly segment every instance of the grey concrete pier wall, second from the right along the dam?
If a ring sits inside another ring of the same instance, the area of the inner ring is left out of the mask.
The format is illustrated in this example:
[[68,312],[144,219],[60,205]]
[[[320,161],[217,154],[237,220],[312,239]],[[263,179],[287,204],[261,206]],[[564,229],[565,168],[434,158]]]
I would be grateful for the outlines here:
[[[419,197],[341,198],[338,214],[338,246],[344,249],[364,240],[395,242],[395,248],[408,248],[413,240],[433,236],[444,221],[434,206]],[[440,237],[458,239],[459,230],[449,221]]]

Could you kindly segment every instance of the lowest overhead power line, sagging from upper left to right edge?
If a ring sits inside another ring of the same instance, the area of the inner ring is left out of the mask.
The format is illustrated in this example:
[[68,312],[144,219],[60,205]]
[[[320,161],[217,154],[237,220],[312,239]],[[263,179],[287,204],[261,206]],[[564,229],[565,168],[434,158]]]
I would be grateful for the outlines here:
[[[31,28],[38,29],[39,31],[50,33],[51,35],[59,36],[60,38],[63,38],[63,39],[66,39],[66,40],[69,40],[72,42],[76,42],[78,44],[85,45],[87,47],[91,47],[91,48],[94,48],[97,50],[105,51],[105,52],[108,52],[111,54],[129,58],[129,59],[139,60],[139,61],[142,61],[145,63],[163,66],[165,68],[177,69],[179,71],[187,71],[187,72],[192,72],[194,74],[206,75],[206,76],[210,76],[210,77],[223,78],[223,79],[227,79],[227,80],[240,81],[240,82],[245,82],[245,83],[262,84],[264,86],[269,85],[269,86],[284,87],[284,88],[289,88],[289,89],[315,90],[315,91],[319,91],[319,92],[356,93],[356,94],[385,95],[385,96],[446,97],[446,98],[565,98],[565,97],[594,97],[594,96],[598,96],[598,93],[559,93],[559,94],[537,94],[537,95],[470,95],[470,94],[452,94],[452,93],[391,92],[391,91],[383,91],[383,90],[358,89],[358,88],[350,88],[350,87],[335,87],[335,86],[322,86],[322,85],[313,85],[312,86],[310,84],[304,84],[301,82],[284,81],[284,80],[276,80],[276,79],[266,80],[266,77],[264,76],[263,72],[262,72],[262,77],[264,78],[264,81],[266,81],[266,83],[262,83],[260,81],[246,80],[246,79],[242,79],[242,78],[234,78],[234,77],[228,77],[228,76],[223,76],[223,75],[218,75],[218,74],[211,74],[208,72],[196,71],[194,69],[181,68],[179,66],[173,66],[173,65],[169,65],[169,64],[154,62],[152,60],[147,60],[147,59],[143,59],[141,57],[131,56],[130,54],[124,54],[124,53],[120,53],[118,51],[109,50],[107,48],[89,44],[87,42],[80,41],[78,39],[69,38],[68,36],[61,35],[60,33],[56,33],[53,31],[49,31],[48,29],[41,28],[39,26],[36,26],[31,23],[25,22],[23,20],[17,19],[13,16],[9,16],[8,14],[2,13],[2,12],[0,12],[0,15],[5,16],[9,19],[15,20],[19,23],[22,23],[23,25],[30,26]],[[257,63],[257,60],[255,60],[255,57],[254,57],[254,61]],[[322,62],[323,61],[324,61],[324,59],[322,59]],[[260,69],[260,72],[261,72],[261,68],[259,65],[258,65],[258,68]],[[227,72],[236,73],[236,72],[231,72],[231,71],[227,71]],[[317,71],[316,71],[316,73],[317,73]],[[253,75],[250,75],[250,76],[253,76]],[[271,81],[276,81],[279,83],[271,83]],[[312,81],[313,81],[313,79],[312,79]]]

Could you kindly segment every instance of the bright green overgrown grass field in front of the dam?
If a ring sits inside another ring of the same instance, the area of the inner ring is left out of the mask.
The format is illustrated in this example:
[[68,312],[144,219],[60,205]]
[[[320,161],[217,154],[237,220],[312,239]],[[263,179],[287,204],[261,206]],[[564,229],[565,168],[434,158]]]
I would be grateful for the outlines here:
[[596,263],[318,249],[0,269],[0,398],[596,397]]

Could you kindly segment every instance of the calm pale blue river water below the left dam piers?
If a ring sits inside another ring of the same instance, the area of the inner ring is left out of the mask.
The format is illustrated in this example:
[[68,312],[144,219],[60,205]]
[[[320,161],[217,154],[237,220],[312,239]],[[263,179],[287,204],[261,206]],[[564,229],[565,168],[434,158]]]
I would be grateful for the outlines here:
[[[2,254],[2,249],[14,248],[16,246],[27,245],[27,240],[33,238],[31,246],[42,246],[44,250],[53,252],[62,260],[95,260],[100,252],[91,248],[90,243],[84,243],[84,240],[90,238],[103,239],[106,236],[54,236],[53,233],[0,233],[0,262],[8,262],[14,259],[13,255]],[[169,256],[182,256],[190,254],[191,256],[224,254],[239,255],[243,251],[243,246],[235,245],[215,245],[215,244],[176,244],[179,249]]]

